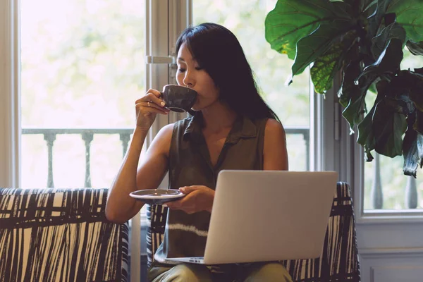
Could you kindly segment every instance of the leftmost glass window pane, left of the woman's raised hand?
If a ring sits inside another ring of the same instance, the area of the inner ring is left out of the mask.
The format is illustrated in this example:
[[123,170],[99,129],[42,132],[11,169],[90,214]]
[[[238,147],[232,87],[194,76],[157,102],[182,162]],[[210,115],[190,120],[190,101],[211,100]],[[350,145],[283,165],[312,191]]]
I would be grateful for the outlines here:
[[55,187],[109,187],[145,92],[145,4],[20,6],[22,185],[44,188],[50,172]]

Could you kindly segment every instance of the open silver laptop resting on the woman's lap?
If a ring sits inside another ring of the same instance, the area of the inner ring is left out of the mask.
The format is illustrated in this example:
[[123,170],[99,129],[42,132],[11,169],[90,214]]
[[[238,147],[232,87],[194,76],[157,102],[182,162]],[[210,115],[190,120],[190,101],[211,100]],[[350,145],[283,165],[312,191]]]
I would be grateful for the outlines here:
[[204,257],[171,262],[229,264],[321,256],[335,171],[219,173]]

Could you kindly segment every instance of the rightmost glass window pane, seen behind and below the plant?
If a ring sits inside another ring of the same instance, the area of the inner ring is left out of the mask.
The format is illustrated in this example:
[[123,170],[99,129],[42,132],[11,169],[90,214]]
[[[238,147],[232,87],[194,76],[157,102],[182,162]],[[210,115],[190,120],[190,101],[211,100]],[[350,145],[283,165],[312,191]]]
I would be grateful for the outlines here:
[[[413,70],[422,66],[423,57],[413,56],[405,48],[401,69]],[[375,98],[372,92],[367,93],[366,104],[369,110]],[[374,160],[364,164],[364,210],[423,209],[423,171],[417,169],[417,179],[405,176],[402,156],[391,159],[376,156],[376,152],[372,152],[372,155]]]

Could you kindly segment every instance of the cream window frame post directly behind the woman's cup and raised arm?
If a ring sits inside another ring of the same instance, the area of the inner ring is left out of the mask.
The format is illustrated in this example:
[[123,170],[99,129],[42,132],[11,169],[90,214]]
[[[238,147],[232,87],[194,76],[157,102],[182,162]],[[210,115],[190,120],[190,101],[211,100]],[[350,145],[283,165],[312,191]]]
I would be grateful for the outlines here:
[[[174,58],[175,43],[178,35],[192,22],[192,2],[189,0],[146,0],[145,2],[145,57]],[[168,63],[147,63],[145,65],[146,90],[153,88],[161,90],[163,85],[176,84],[176,65]],[[149,130],[145,142],[148,148],[154,136],[159,130],[169,123],[174,123],[182,114],[171,112],[168,116],[158,115],[152,128]],[[159,185],[159,188],[167,188],[168,175]],[[138,213],[131,220],[132,240],[131,247],[131,281],[137,281],[140,277],[140,258],[144,255],[145,242],[141,238],[141,226],[147,226],[145,214]],[[135,269],[135,271],[133,271]]]

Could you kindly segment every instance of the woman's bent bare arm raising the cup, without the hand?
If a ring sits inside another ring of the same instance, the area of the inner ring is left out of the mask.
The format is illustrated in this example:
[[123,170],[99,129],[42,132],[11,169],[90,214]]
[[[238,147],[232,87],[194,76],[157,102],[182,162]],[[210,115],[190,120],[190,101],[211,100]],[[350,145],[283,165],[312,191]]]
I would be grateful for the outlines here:
[[140,212],[144,203],[130,197],[130,192],[155,189],[159,186],[168,169],[172,133],[173,124],[161,128],[145,155],[140,159],[147,133],[145,130],[135,129],[122,166],[109,189],[106,202],[106,218],[109,221],[123,223]]

